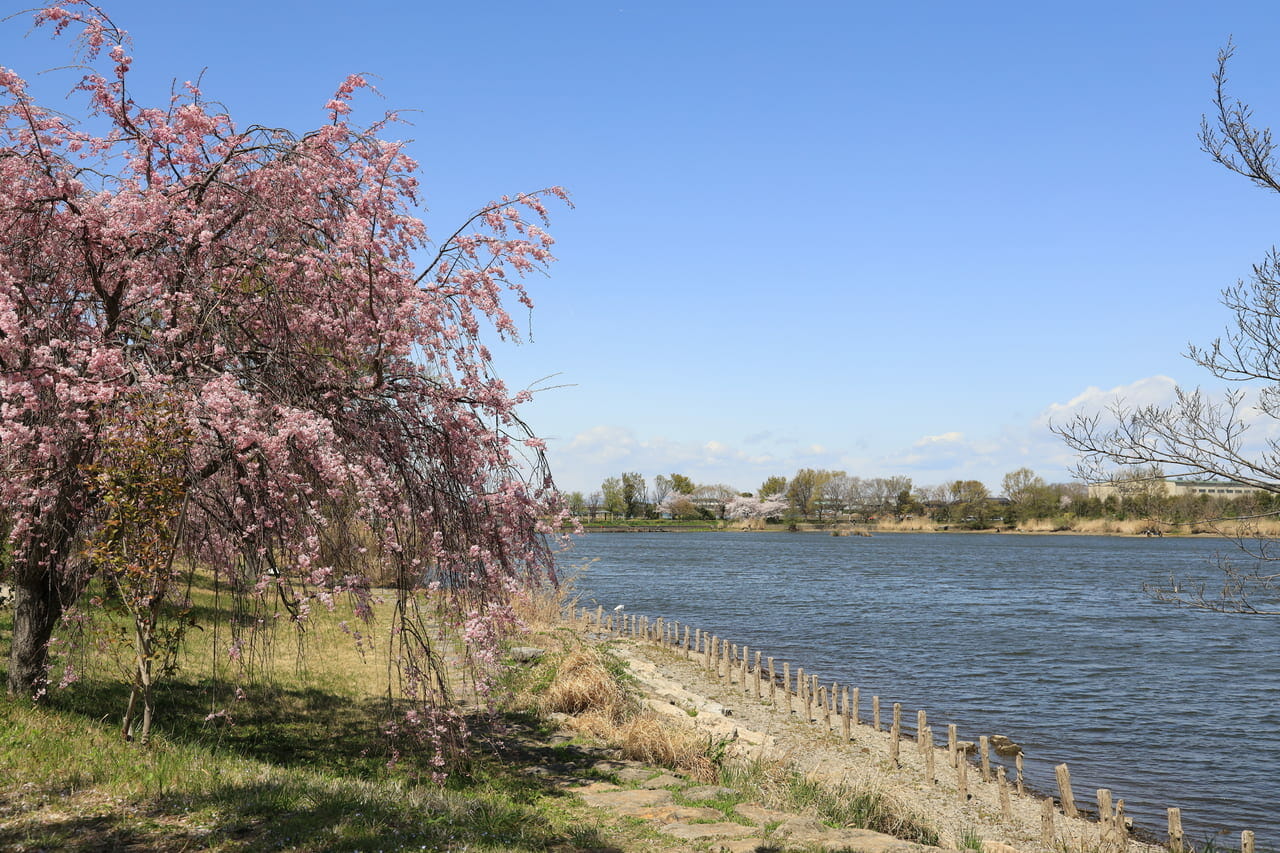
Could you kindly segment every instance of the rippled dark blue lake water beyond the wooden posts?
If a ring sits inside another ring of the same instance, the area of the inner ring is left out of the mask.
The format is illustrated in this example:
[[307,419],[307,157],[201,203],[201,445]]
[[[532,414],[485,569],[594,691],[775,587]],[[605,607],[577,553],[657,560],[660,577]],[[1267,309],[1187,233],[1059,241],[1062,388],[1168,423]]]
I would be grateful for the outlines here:
[[[595,534],[582,605],[678,620],[824,681],[1004,734],[1030,785],[1108,788],[1161,838],[1280,849],[1280,617],[1179,610],[1143,583],[1212,579],[1213,539],[785,533]],[[1210,584],[1212,589],[1212,581]]]

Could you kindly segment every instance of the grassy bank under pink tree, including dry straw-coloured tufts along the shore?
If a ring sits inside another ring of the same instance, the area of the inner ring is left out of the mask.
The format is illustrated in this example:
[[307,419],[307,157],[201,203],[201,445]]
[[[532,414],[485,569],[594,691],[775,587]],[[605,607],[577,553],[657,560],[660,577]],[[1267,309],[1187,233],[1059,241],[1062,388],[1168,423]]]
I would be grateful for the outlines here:
[[[870,794],[822,793],[783,766],[726,762],[723,744],[645,713],[608,644],[558,625],[554,601],[530,606],[531,631],[515,638],[547,654],[512,667],[498,713],[468,706],[470,748],[439,785],[425,757],[385,734],[376,631],[362,654],[342,629],[349,613],[319,613],[301,639],[278,631],[237,692],[225,663],[212,666],[225,615],[209,588],[195,597],[200,629],[159,690],[151,744],[122,739],[127,689],[101,649],[42,706],[0,699],[0,849],[654,849],[652,829],[593,809],[548,777],[548,767],[585,757],[579,775],[611,779],[593,770],[595,754],[732,783],[740,793],[717,803],[727,815],[750,798],[832,825],[932,838]],[[0,611],[5,654],[10,631],[12,613]],[[558,734],[564,725],[576,736]]]

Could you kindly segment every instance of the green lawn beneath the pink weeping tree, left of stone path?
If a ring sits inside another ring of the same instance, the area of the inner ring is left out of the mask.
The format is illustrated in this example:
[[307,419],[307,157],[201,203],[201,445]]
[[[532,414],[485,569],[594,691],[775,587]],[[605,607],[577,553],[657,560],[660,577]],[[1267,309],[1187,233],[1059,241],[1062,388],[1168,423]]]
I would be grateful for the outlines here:
[[[385,735],[385,662],[353,651],[340,615],[316,620],[305,658],[282,633],[237,698],[209,663],[225,617],[196,594],[201,630],[157,688],[150,745],[122,739],[128,690],[102,657],[45,704],[0,697],[0,849],[573,850],[630,831],[522,774],[557,756],[515,754],[545,734],[517,712],[474,715],[465,762],[434,784],[430,762]],[[4,661],[10,631],[0,611]]]

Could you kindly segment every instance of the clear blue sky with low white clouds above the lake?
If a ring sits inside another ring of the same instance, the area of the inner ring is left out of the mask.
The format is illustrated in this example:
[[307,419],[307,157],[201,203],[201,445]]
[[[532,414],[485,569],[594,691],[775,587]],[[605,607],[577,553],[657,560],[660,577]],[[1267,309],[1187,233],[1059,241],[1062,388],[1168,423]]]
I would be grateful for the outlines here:
[[[531,341],[495,353],[513,387],[554,375],[525,415],[567,491],[1066,479],[1050,418],[1213,387],[1180,353],[1280,213],[1196,138],[1229,36],[1233,91],[1280,123],[1274,3],[106,8],[140,100],[207,69],[242,126],[305,131],[376,74],[361,109],[406,110],[435,233],[568,188]],[[0,63],[65,63],[26,29]]]

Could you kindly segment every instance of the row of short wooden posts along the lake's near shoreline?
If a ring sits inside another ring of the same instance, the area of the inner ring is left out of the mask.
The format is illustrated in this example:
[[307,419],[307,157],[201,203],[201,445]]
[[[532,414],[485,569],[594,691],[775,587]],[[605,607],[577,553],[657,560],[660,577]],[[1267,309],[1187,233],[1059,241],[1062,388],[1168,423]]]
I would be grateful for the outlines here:
[[[596,607],[595,611],[582,608],[572,613],[582,622],[594,625],[598,630],[614,635],[627,635],[637,639],[646,639],[673,651],[682,653],[686,658],[700,662],[709,671],[716,672],[721,679],[732,684],[735,680],[744,692],[754,693],[758,699],[767,699],[782,713],[799,713],[799,704],[803,708],[804,719],[823,724],[827,730],[840,726],[845,739],[852,738],[854,726],[861,725],[859,708],[861,704],[861,690],[859,688],[841,686],[832,683],[829,686],[819,681],[817,675],[805,672],[803,667],[796,667],[795,676],[791,674],[791,663],[783,661],[781,671],[776,667],[774,660],[763,656],[759,649],[753,651],[746,646],[737,646],[726,639],[708,634],[677,621],[657,619],[650,621],[648,616],[639,613],[626,613],[620,611],[605,611]],[[881,719],[881,699],[872,697],[870,725],[876,731],[883,731]],[[888,729],[888,757],[896,767],[901,766],[900,749],[902,742],[902,704],[895,702],[892,707]],[[924,762],[925,775],[931,784],[941,781],[934,772],[936,749],[933,729],[928,725],[924,711],[915,712],[915,744],[920,758]],[[998,748],[998,745],[997,745]],[[956,726],[947,725],[947,763],[955,774],[955,783],[963,799],[969,799],[969,753],[978,754],[978,771],[983,781],[995,781],[1000,797],[1000,807],[1006,820],[1012,820],[1012,802],[1010,798],[1010,783],[1005,777],[1005,767],[993,765],[991,760],[992,738],[982,736],[978,744],[959,740]],[[1012,789],[1019,795],[1027,794],[1023,779],[1021,751],[1014,753],[1015,779]],[[1068,817],[1082,817],[1080,809],[1075,804],[1071,792],[1071,774],[1068,766],[1057,765],[1055,775],[1059,789],[1059,802],[1062,813]],[[1124,813],[1124,800],[1112,800],[1111,792],[1100,788],[1097,792],[1098,803],[1098,847],[1102,850],[1124,852],[1129,848],[1129,827]],[[1046,847],[1053,847],[1055,827],[1053,818],[1057,807],[1053,798],[1047,797],[1041,802],[1041,840]],[[1185,849],[1183,836],[1181,811],[1169,809],[1169,845],[1175,853]],[[1254,835],[1245,830],[1240,833],[1240,853],[1254,853]]]

